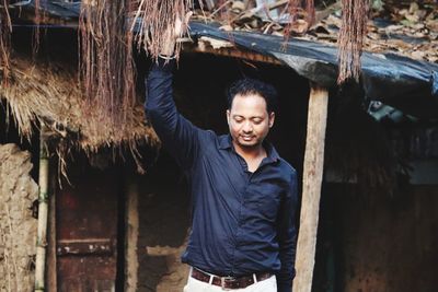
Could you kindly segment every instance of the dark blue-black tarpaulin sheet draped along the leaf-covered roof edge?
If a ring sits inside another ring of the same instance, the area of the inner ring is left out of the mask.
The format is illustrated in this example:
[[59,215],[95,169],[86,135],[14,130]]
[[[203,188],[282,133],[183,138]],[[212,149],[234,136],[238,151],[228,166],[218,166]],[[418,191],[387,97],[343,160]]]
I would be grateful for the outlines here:
[[[325,87],[336,86],[337,48],[302,39],[245,32],[222,32],[216,25],[191,23],[194,38],[229,40],[283,61],[298,74]],[[438,117],[438,65],[393,54],[362,55],[360,83],[366,97],[392,105],[417,117]]]

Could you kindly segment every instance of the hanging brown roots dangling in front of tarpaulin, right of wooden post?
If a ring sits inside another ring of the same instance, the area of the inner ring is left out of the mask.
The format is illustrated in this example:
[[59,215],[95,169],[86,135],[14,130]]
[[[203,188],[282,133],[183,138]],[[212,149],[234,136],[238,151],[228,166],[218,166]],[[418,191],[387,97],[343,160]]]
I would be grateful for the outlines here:
[[367,33],[369,0],[342,0],[343,19],[338,38],[339,74],[337,83],[347,79],[359,80],[360,56]]

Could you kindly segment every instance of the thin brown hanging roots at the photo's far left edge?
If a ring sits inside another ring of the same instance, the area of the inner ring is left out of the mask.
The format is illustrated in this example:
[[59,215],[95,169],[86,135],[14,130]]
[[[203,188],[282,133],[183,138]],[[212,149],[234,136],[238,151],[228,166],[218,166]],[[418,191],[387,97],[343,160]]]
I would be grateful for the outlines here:
[[8,12],[9,0],[0,0],[0,68],[2,69],[2,80],[5,82],[9,77],[9,49],[11,46],[12,24]]

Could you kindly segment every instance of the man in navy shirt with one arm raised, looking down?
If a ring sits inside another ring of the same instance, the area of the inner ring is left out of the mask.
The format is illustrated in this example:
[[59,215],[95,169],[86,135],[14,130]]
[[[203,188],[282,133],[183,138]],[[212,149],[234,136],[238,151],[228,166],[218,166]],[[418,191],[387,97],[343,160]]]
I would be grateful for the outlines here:
[[192,268],[184,291],[289,292],[297,175],[265,141],[276,91],[257,80],[234,83],[228,95],[230,133],[217,136],[176,110],[172,54],[166,50],[149,73],[146,113],[191,182],[193,227],[182,260]]

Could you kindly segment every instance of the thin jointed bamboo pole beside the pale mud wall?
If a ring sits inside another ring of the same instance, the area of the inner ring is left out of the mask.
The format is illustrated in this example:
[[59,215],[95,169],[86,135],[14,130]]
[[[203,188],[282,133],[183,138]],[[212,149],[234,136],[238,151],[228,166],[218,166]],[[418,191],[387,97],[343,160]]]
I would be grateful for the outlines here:
[[47,127],[43,124],[39,132],[39,196],[38,196],[38,231],[36,238],[35,292],[45,290],[45,265],[47,248],[48,218],[48,151],[46,145]]

